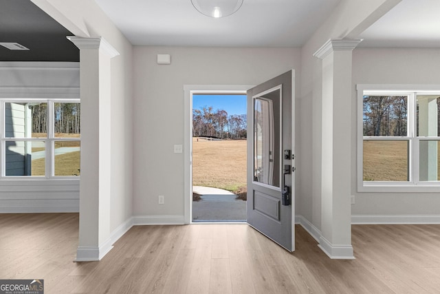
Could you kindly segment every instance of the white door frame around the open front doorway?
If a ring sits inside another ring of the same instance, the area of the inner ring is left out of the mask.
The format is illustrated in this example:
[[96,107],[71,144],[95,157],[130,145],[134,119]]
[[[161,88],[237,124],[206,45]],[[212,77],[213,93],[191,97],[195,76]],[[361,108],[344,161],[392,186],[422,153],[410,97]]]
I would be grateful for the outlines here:
[[192,223],[192,95],[246,94],[254,85],[184,85],[184,222]]

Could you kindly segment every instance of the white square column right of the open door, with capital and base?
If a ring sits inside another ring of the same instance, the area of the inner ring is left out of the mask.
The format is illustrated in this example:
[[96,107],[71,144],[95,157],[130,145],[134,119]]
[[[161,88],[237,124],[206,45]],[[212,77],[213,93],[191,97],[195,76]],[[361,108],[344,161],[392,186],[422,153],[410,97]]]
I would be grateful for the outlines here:
[[320,248],[330,258],[353,259],[351,246],[351,73],[360,40],[329,40],[322,59],[322,178]]

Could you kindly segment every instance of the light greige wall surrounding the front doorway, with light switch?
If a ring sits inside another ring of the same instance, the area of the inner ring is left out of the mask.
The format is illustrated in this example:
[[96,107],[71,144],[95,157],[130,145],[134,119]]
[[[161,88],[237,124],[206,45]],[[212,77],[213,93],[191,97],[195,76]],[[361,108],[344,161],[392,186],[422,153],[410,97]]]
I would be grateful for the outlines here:
[[[157,65],[157,54],[171,54],[171,64]],[[257,85],[292,68],[298,73],[300,50],[135,47],[134,68],[133,215],[183,217],[184,156],[173,145],[184,144],[184,85]]]

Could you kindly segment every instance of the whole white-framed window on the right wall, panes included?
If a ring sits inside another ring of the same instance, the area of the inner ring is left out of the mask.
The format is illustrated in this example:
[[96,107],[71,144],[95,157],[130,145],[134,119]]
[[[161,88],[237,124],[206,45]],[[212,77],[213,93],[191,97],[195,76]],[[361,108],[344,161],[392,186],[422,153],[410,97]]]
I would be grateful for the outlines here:
[[440,185],[440,87],[358,85],[358,191]]

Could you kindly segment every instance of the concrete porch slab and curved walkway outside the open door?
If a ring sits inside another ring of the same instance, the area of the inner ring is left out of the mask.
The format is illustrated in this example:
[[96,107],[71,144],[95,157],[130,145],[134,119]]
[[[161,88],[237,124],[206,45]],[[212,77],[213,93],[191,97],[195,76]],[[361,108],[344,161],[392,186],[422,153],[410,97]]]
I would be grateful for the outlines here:
[[201,200],[192,202],[193,222],[245,222],[246,201],[223,189],[193,186]]

